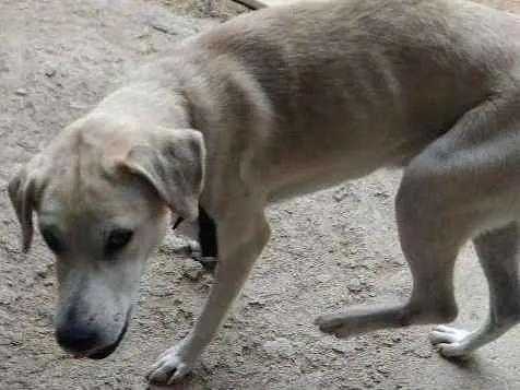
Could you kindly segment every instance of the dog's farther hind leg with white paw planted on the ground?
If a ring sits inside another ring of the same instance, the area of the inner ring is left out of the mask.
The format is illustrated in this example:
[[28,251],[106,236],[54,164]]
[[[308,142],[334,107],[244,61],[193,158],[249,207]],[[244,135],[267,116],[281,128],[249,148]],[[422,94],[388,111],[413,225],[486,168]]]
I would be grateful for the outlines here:
[[446,326],[435,328],[430,340],[442,355],[468,355],[520,321],[519,235],[515,222],[473,240],[489,285],[489,314],[482,327],[473,332]]

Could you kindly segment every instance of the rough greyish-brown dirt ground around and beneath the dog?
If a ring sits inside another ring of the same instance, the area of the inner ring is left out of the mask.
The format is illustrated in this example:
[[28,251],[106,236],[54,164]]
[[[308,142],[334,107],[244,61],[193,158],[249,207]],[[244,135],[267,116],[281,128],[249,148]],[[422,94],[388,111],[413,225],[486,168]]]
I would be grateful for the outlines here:
[[[519,0],[495,4],[520,11]],[[125,70],[240,11],[224,0],[0,0],[0,187]],[[273,206],[273,238],[243,298],[177,388],[520,389],[518,328],[454,364],[429,345],[430,327],[336,341],[312,324],[326,310],[410,292],[393,222],[399,177],[382,172]],[[38,237],[20,253],[2,190],[0,389],[145,389],[147,367],[187,333],[211,285],[177,245],[167,237],[151,259],[120,348],[104,361],[73,361],[54,340],[50,252]],[[457,322],[475,327],[486,287],[472,249],[461,258]]]

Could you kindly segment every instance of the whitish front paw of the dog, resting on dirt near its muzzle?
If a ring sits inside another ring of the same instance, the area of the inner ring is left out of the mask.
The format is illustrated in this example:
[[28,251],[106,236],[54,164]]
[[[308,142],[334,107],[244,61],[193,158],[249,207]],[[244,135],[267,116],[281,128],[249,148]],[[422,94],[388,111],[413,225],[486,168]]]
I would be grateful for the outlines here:
[[193,350],[190,338],[166,350],[152,366],[146,379],[153,385],[173,385],[182,379],[193,368],[198,354]]

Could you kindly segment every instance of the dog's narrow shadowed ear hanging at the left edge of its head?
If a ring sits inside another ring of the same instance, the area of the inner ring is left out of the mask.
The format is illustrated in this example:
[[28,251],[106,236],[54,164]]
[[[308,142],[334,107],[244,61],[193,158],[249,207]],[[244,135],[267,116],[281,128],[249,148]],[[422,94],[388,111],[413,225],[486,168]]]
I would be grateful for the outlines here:
[[27,252],[33,240],[33,211],[36,208],[38,172],[27,164],[11,179],[8,186],[9,199],[16,212],[22,228],[22,250]]

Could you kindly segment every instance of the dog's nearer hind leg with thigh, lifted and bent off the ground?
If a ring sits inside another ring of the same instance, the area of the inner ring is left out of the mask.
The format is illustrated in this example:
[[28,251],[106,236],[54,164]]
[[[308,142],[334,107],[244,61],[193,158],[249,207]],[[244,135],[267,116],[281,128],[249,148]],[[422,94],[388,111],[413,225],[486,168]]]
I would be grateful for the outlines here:
[[[410,299],[322,316],[336,336],[413,323],[453,320],[453,267],[460,247],[520,210],[520,96],[484,102],[415,157],[395,201],[403,253],[413,276]],[[515,209],[515,210],[513,210]]]

